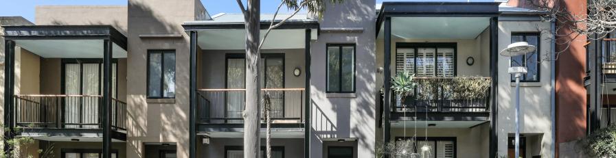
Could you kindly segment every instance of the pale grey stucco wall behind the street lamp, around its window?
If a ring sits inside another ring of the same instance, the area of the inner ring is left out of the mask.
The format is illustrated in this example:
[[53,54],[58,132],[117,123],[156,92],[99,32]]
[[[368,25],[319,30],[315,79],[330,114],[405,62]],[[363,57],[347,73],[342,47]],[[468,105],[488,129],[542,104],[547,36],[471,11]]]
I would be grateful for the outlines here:
[[[503,50],[511,43],[512,32],[539,32],[539,29],[549,30],[550,23],[545,22],[533,22],[533,21],[500,21],[499,22],[499,50]],[[539,57],[546,57],[545,55],[551,51],[551,40],[549,35],[542,34],[540,40]],[[498,62],[498,90],[499,94],[497,98],[499,119],[497,127],[499,139],[498,139],[498,153],[503,155],[507,152],[507,134],[515,133],[515,86],[512,85],[510,74],[507,73],[507,68],[510,66],[510,57],[499,56]],[[521,133],[540,133],[543,134],[541,139],[541,152],[540,155],[551,155],[550,146],[554,143],[551,139],[551,107],[550,100],[551,94],[550,85],[550,61],[543,61],[540,63],[540,82],[536,83],[521,83],[520,95],[521,95],[521,115],[520,124]]]

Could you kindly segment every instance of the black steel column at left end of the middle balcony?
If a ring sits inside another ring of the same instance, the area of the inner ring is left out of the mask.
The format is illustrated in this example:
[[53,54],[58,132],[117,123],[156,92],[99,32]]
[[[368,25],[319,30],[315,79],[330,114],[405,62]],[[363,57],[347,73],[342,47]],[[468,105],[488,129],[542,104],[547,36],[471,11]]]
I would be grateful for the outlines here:
[[197,86],[197,31],[190,31],[190,108],[189,132],[190,148],[188,157],[196,157],[196,86]]

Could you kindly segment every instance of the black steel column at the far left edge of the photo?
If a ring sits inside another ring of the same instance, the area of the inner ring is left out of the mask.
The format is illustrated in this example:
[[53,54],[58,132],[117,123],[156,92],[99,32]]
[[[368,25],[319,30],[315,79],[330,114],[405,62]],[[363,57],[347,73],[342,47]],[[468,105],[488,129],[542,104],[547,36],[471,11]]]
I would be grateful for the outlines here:
[[[14,66],[15,66],[15,42],[12,40],[4,41],[4,144],[12,139],[13,135],[13,94],[14,94]],[[8,130],[6,130],[8,129]],[[12,148],[5,145],[3,150],[10,153]]]

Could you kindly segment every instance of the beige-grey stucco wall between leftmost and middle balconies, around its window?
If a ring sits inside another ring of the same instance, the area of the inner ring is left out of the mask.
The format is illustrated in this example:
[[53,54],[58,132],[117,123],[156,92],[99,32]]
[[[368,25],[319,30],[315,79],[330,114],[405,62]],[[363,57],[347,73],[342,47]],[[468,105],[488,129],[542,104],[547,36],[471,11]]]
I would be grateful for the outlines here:
[[[194,21],[196,0],[128,1],[128,140],[127,157],[144,157],[144,142],[171,142],[177,156],[188,157],[189,38],[184,21]],[[139,35],[181,34],[181,38],[139,38]],[[146,99],[148,49],[176,51],[176,97]]]

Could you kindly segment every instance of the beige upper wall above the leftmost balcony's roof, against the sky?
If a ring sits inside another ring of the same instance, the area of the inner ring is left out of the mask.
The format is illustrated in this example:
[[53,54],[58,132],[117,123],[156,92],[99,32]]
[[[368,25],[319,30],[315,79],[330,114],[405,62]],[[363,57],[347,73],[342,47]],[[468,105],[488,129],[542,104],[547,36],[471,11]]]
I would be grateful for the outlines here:
[[112,25],[128,33],[126,5],[41,5],[34,18],[36,25]]

